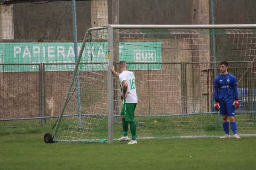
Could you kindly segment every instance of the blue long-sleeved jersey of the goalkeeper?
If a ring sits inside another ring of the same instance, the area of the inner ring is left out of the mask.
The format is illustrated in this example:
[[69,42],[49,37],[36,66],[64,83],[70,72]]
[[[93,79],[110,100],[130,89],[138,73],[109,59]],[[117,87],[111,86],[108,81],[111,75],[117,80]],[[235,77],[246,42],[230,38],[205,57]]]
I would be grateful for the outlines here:
[[218,75],[214,80],[214,97],[221,103],[234,102],[238,98],[236,77],[229,73]]

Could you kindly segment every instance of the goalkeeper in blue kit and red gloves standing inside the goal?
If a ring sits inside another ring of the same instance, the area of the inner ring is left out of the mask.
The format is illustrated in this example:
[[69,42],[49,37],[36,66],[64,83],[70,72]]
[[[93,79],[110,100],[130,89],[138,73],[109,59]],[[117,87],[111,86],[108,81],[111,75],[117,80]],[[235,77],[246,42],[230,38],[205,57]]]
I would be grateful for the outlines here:
[[219,64],[221,74],[214,80],[214,96],[215,96],[215,109],[220,111],[223,117],[223,129],[225,135],[220,138],[230,138],[229,135],[229,123],[227,117],[230,120],[230,127],[234,133],[235,139],[241,139],[237,135],[237,128],[235,122],[235,108],[239,106],[238,103],[238,90],[236,77],[227,72],[228,63],[222,61]]

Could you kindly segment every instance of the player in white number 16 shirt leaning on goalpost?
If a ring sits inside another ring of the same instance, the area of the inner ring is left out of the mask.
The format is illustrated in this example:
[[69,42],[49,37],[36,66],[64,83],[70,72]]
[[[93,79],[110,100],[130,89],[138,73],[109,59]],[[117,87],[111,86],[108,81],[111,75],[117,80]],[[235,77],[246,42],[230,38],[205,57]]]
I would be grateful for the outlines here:
[[120,142],[129,141],[128,138],[128,127],[130,124],[131,129],[131,141],[128,144],[137,144],[136,141],[136,131],[137,126],[134,119],[134,111],[138,102],[138,97],[136,93],[136,83],[134,73],[127,70],[127,65],[125,61],[120,61],[118,64],[118,70],[121,74],[115,71],[115,68],[110,68],[112,73],[119,77],[119,83],[121,87],[121,99],[123,102],[121,110],[121,119],[124,135],[117,139]]

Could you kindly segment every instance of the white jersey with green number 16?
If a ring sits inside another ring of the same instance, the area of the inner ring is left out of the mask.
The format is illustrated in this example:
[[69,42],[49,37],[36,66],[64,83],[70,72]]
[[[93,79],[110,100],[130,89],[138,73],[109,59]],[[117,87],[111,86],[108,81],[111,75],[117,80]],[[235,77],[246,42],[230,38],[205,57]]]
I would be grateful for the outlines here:
[[[119,75],[121,94],[122,94],[122,82],[124,80],[126,80],[128,83],[127,93],[129,93],[126,95],[125,103],[137,103],[138,97],[137,97],[137,93],[136,93],[136,83],[135,83],[134,73],[132,71],[126,70],[126,71],[123,71]],[[123,99],[123,97],[122,97],[122,99]]]

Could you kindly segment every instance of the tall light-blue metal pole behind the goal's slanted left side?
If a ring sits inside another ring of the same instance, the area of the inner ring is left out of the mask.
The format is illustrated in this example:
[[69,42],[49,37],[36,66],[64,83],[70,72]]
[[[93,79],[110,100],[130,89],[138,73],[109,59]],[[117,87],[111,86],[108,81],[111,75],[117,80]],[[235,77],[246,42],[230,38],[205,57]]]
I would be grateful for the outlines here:
[[[77,52],[77,28],[76,28],[76,0],[72,0],[72,14],[73,14],[73,37],[74,37],[74,52],[75,52],[75,64],[77,64],[78,52]],[[78,113],[78,127],[81,127],[81,100],[80,100],[80,82],[78,72],[76,72],[76,105]]]

